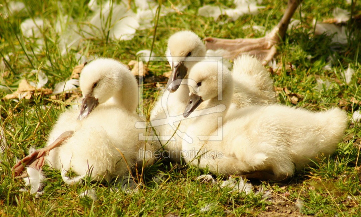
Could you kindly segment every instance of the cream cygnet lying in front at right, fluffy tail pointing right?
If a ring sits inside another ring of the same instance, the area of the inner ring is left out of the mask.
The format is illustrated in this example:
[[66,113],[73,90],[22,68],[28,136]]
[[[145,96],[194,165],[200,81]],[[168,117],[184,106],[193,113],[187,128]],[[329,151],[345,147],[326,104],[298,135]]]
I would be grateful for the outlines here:
[[[218,75],[217,64],[213,63],[197,63],[191,69],[189,78],[196,85],[190,86],[184,116],[194,111],[204,113],[221,104],[229,107],[232,88],[227,86],[232,86],[233,80],[224,67],[222,82],[218,83]],[[222,99],[218,93],[222,93]],[[310,112],[269,105],[241,108],[218,129],[215,119],[224,117],[226,112],[227,109],[190,119],[186,132],[193,141],[182,142],[182,156],[187,163],[208,167],[216,174],[283,180],[294,174],[295,166],[300,169],[319,154],[334,153],[347,126],[347,116],[338,108]],[[218,141],[204,137],[217,133],[221,137]]]

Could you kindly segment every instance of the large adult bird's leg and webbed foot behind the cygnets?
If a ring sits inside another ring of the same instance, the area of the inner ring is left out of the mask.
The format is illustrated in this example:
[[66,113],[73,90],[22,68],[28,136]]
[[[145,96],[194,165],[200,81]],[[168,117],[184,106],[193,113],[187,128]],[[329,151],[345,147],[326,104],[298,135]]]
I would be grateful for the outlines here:
[[223,56],[227,59],[234,59],[239,55],[249,54],[256,56],[262,61],[263,65],[266,65],[277,53],[276,46],[283,40],[291,17],[301,1],[288,0],[286,12],[283,14],[281,21],[265,37],[254,39],[205,38],[205,46],[209,50],[223,49],[228,51],[229,53]]

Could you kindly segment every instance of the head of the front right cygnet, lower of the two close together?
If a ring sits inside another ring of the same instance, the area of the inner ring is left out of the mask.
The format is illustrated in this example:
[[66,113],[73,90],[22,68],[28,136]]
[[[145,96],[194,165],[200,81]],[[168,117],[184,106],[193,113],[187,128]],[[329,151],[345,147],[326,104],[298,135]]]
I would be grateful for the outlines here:
[[229,69],[218,61],[196,63],[190,70],[187,84],[190,95],[183,113],[185,118],[204,101],[215,99],[218,102],[219,89],[222,94],[227,89],[233,91],[232,75]]

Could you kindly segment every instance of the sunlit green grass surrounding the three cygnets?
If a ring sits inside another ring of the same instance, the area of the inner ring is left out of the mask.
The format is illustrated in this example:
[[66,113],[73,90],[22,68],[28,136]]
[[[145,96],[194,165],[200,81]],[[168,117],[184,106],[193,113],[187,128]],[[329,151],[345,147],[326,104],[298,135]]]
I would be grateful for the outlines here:
[[[136,58],[136,52],[151,49],[154,28],[138,30],[130,41],[114,41],[106,36],[84,38],[81,46],[73,48],[67,54],[61,55],[58,46],[60,37],[54,26],[56,19],[67,15],[74,24],[81,24],[91,15],[87,7],[88,1],[70,1],[58,4],[58,1],[30,1],[24,0],[26,8],[19,13],[6,17],[5,8],[9,2],[1,2],[4,6],[0,15],[0,53],[9,54],[7,66],[0,71],[0,85],[15,91],[21,79],[36,80],[33,69],[41,69],[49,78],[45,87],[54,88],[57,82],[68,79],[73,68],[79,64],[77,54],[85,57],[105,56],[119,59],[127,64]],[[181,1],[171,1],[178,5]],[[176,31],[190,29],[201,38],[213,36],[222,38],[262,37],[264,33],[250,28],[242,29],[244,25],[260,25],[269,31],[275,26],[282,12],[286,8],[286,1],[263,1],[266,7],[257,15],[244,15],[234,22],[227,22],[221,17],[214,22],[213,18],[197,16],[197,8],[204,4],[232,6],[225,1],[186,1],[188,5],[183,14],[170,13],[167,17],[160,17],[153,52],[157,56],[165,53],[168,37]],[[163,4],[170,6],[169,1]],[[134,4],[133,4],[134,5]],[[296,66],[291,72],[283,67],[278,74],[273,75],[275,86],[287,87],[292,93],[300,94],[303,99],[293,105],[290,98],[283,91],[279,92],[279,101],[285,105],[304,107],[309,110],[325,110],[331,107],[342,107],[352,117],[360,105],[352,103],[351,98],[361,100],[358,87],[361,80],[361,32],[360,22],[349,21],[346,26],[352,31],[348,43],[335,46],[331,37],[314,35],[313,19],[324,20],[332,17],[332,10],[341,7],[350,10],[351,6],[345,2],[325,0],[321,3],[314,0],[304,0],[300,10],[293,18],[301,19],[301,28],[287,31],[284,43],[279,46],[276,60],[285,66],[288,62]],[[131,8],[135,10],[135,8]],[[358,2],[353,9],[355,14],[361,11]],[[302,17],[300,15],[302,14]],[[19,26],[26,18],[40,17],[52,20],[43,30],[44,44],[40,52],[34,38],[23,37]],[[332,56],[331,70],[323,67]],[[342,73],[350,65],[355,70],[351,82],[343,81]],[[155,76],[170,70],[165,62],[150,62],[149,69]],[[317,89],[316,78],[329,80],[333,88]],[[151,82],[150,82],[151,83]],[[9,89],[0,88],[3,98]],[[144,102],[151,103],[157,96],[153,85],[144,85]],[[286,183],[252,182],[254,192],[264,188],[271,191],[270,199],[262,199],[260,195],[231,192],[225,188],[210,183],[200,183],[198,175],[204,174],[195,167],[174,165],[166,161],[157,162],[145,168],[144,183],[138,193],[126,194],[116,191],[113,183],[92,183],[84,180],[80,185],[68,186],[59,171],[44,168],[47,176],[44,194],[39,198],[20,192],[24,187],[22,180],[14,179],[10,171],[16,158],[28,154],[30,147],[40,148],[44,145],[47,134],[55,123],[58,115],[66,109],[62,98],[49,99],[49,95],[38,96],[30,100],[19,102],[1,100],[0,125],[5,129],[8,149],[1,154],[0,164],[0,215],[9,216],[43,216],[43,215],[250,215],[250,216],[298,216],[300,214],[314,214],[317,216],[360,216],[361,215],[361,132],[360,124],[349,124],[339,149],[330,158],[322,158],[316,166],[298,171]],[[339,101],[347,101],[339,105]],[[42,109],[46,106],[46,109]],[[144,109],[147,111],[147,109]],[[357,162],[357,164],[356,164]],[[162,181],[156,183],[152,177],[162,174]],[[217,177],[221,180],[223,177]],[[86,189],[94,189],[97,200],[79,197]],[[304,207],[296,207],[296,201],[303,201]],[[201,208],[212,204],[209,211],[201,212]]]

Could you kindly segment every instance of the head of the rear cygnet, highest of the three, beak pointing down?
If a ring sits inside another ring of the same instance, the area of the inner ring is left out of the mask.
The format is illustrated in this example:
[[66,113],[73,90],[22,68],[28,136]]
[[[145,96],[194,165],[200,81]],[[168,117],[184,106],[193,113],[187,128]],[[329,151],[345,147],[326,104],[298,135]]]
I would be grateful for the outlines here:
[[[167,87],[177,79],[186,77],[195,61],[187,61],[190,57],[204,57],[206,48],[199,36],[192,31],[179,31],[168,40],[168,50],[172,56],[172,74],[169,77]],[[180,82],[169,88],[171,93],[179,88]]]

